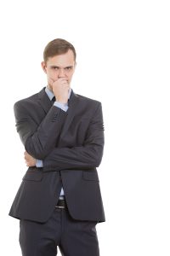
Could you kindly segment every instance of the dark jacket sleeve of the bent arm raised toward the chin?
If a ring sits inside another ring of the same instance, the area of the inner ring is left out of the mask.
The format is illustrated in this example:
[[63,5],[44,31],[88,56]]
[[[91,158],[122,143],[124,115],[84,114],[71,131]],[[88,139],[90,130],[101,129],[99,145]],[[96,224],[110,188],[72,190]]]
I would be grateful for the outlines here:
[[36,109],[24,101],[14,104],[16,129],[26,151],[35,159],[43,160],[55,147],[67,113],[53,106],[37,124],[32,111],[36,112]]

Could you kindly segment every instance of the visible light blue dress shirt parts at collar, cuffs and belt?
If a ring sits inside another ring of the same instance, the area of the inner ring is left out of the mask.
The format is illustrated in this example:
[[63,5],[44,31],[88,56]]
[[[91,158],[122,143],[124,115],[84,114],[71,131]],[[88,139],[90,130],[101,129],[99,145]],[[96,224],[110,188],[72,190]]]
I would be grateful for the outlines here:
[[[50,101],[52,101],[52,99],[54,98],[54,93],[53,91],[49,90],[48,89],[48,86],[45,88],[45,92],[47,93],[48,95],[48,98],[50,99]],[[68,95],[68,99],[70,99],[70,96],[71,96],[71,88],[69,90],[69,95]],[[61,108],[62,110],[64,110],[65,112],[68,110],[68,103],[61,103],[61,102],[57,102],[57,99],[56,101],[54,102],[54,106],[57,107],[57,108]],[[36,166],[38,168],[40,167],[43,167],[43,162],[42,160],[36,160]],[[63,195],[65,195],[64,193],[64,189],[61,188],[61,192],[60,192],[60,197],[62,197]]]

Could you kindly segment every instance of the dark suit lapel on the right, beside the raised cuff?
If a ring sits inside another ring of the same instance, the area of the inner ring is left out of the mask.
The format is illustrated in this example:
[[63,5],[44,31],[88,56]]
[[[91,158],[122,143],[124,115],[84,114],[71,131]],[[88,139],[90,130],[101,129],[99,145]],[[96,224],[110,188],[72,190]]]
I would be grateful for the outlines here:
[[71,125],[72,119],[75,116],[77,109],[78,96],[73,91],[71,91],[71,97],[68,103],[67,117],[65,119],[65,124],[61,131],[61,137],[65,137],[65,133],[68,131],[69,126]]

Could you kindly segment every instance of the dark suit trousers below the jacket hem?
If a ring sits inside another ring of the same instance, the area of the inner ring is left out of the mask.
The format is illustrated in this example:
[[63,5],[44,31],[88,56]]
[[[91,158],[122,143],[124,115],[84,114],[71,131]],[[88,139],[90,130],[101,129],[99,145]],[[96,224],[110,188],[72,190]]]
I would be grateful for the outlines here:
[[67,208],[55,208],[46,223],[20,220],[20,247],[23,256],[99,256],[95,229],[97,222],[71,218]]

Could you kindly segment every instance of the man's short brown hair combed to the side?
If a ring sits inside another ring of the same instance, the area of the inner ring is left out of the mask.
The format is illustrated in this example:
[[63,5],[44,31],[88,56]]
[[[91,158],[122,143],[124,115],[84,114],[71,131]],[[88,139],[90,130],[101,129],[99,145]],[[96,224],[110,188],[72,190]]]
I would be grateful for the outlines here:
[[64,39],[54,39],[53,41],[49,42],[48,45],[45,47],[43,51],[43,60],[46,62],[48,61],[48,57],[65,54],[69,49],[72,50],[76,61],[77,53],[74,46]]

